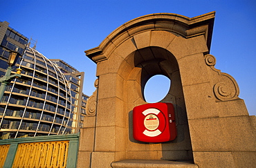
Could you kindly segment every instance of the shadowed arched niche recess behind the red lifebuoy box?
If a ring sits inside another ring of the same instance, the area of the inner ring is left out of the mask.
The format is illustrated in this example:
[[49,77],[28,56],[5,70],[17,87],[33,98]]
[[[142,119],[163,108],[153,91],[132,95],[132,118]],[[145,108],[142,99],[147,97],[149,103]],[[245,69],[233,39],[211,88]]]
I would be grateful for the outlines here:
[[[127,56],[121,64],[118,74],[123,77],[124,102],[126,111],[131,115],[134,106],[146,104],[143,97],[143,90],[147,80],[154,75],[165,75],[172,80],[169,93],[161,102],[171,102],[175,106],[176,124],[179,135],[176,140],[161,144],[149,144],[136,142],[132,137],[131,116],[127,122],[129,128],[129,140],[127,141],[127,157],[132,159],[149,158],[152,160],[193,160],[190,133],[188,129],[188,118],[185,110],[183,88],[179,73],[179,65],[176,58],[169,51],[159,47],[147,47],[136,50]],[[127,64],[127,63],[130,64]],[[129,68],[127,68],[129,66]],[[130,69],[130,71],[127,71]],[[154,148],[152,150],[151,148]],[[140,154],[136,154],[140,152]]]

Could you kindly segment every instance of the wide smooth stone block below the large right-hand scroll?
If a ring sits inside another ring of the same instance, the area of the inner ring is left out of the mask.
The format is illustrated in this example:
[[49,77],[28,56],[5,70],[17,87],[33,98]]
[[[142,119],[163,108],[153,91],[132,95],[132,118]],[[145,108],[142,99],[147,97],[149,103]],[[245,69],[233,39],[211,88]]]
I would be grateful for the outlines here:
[[189,120],[189,124],[193,151],[256,151],[249,116]]

